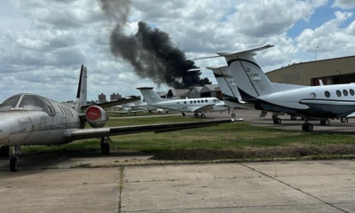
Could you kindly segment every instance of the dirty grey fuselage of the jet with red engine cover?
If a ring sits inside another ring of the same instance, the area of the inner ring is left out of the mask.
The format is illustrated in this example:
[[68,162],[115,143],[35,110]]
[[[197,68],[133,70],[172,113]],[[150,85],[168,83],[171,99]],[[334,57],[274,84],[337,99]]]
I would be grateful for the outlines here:
[[51,114],[21,108],[0,112],[0,145],[60,145],[71,142],[71,130],[81,129],[85,123],[70,106],[46,100],[51,105]]

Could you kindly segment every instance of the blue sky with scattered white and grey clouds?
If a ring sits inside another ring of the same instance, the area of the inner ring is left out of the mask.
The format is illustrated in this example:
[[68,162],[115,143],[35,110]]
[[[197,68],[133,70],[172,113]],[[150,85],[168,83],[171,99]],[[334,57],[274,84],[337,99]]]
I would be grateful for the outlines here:
[[[118,0],[128,1],[128,0]],[[170,35],[186,58],[273,44],[256,61],[264,72],[315,59],[355,55],[355,1],[350,0],[131,0],[123,30],[138,21]],[[0,0],[0,102],[30,92],[75,100],[81,65],[88,68],[88,99],[103,92],[139,95],[137,87],[168,91],[141,79],[110,51],[115,22],[94,0]],[[224,59],[195,61],[198,67]],[[216,83],[213,75],[204,72]]]

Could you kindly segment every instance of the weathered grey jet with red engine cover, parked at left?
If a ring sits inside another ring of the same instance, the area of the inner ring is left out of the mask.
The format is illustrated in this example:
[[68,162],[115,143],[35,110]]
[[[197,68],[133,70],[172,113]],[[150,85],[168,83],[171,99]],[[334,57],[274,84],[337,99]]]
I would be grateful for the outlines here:
[[[100,138],[102,154],[109,154],[110,136],[146,131],[168,132],[233,122],[211,120],[104,128],[108,116],[103,108],[130,103],[138,98],[87,106],[86,97],[87,69],[82,66],[73,107],[30,93],[21,93],[4,100],[0,105],[0,155],[9,156],[12,147],[10,170],[18,170],[17,154],[21,153],[20,146],[63,145],[74,140]],[[84,129],[87,123],[92,129]]]

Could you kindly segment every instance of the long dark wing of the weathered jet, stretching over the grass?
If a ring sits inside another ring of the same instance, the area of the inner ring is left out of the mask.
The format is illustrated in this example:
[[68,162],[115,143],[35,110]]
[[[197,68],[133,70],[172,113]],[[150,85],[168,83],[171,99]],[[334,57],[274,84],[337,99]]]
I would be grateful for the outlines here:
[[135,125],[124,127],[110,127],[110,128],[97,128],[97,129],[80,129],[72,130],[71,138],[73,140],[87,139],[87,138],[101,138],[116,135],[127,135],[139,132],[154,131],[155,133],[175,131],[175,130],[188,130],[194,128],[201,128],[207,126],[214,126],[221,123],[228,122],[242,122],[243,119],[224,119],[224,120],[211,120],[207,122],[172,122],[161,124],[147,124]]

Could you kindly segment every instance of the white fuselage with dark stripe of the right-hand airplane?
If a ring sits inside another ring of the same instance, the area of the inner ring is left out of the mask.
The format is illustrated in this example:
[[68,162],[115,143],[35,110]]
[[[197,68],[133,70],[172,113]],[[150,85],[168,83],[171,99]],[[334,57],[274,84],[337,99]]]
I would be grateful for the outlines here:
[[355,84],[310,86],[243,99],[256,109],[306,117],[340,118],[355,112]]

